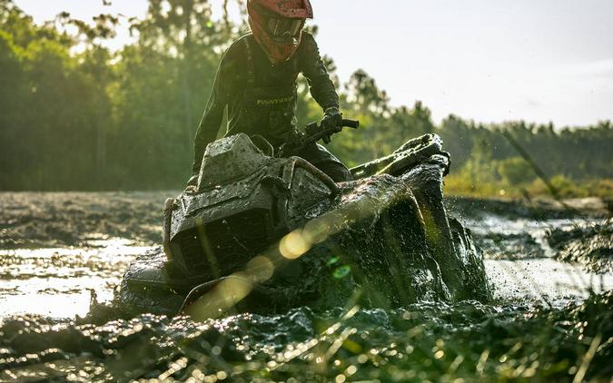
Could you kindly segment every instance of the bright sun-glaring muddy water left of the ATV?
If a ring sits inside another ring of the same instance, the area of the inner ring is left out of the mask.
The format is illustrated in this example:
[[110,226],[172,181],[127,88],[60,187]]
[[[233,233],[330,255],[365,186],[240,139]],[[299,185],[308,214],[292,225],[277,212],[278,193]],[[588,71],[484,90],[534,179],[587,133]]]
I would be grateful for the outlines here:
[[112,300],[130,262],[151,249],[124,239],[90,241],[88,245],[0,250],[0,317],[84,316],[92,294],[101,302]]

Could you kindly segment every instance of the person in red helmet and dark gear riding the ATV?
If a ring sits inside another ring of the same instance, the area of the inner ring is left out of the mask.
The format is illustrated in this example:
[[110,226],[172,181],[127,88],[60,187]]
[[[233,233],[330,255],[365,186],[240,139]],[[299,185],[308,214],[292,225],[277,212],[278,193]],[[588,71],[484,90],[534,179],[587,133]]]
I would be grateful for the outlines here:
[[[278,149],[297,134],[296,78],[302,73],[311,95],[324,111],[323,128],[341,123],[339,96],[321,61],[313,36],[302,31],[312,18],[310,0],[248,0],[252,33],[223,54],[194,143],[193,177],[200,173],[206,145],[213,142],[227,106],[226,135],[261,136]],[[332,180],[351,180],[351,172],[323,146],[312,143],[292,152]]]

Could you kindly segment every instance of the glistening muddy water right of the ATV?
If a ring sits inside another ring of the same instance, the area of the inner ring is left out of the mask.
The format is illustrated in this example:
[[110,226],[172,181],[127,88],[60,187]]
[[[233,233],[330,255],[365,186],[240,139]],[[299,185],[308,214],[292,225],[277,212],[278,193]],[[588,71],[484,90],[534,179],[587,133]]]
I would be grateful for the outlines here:
[[590,291],[613,289],[613,275],[589,272],[584,265],[555,260],[556,252],[549,247],[547,233],[605,221],[598,218],[510,220],[485,213],[480,219],[466,219],[464,223],[470,227],[486,257],[486,270],[498,300],[540,300],[563,305],[569,300],[588,297]]

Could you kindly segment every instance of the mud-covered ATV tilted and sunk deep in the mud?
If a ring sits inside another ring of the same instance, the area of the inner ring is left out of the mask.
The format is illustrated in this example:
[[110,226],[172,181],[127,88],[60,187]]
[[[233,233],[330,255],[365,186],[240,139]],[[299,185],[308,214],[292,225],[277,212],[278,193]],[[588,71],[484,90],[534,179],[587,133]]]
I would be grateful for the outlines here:
[[[340,130],[310,125],[291,145]],[[197,187],[166,201],[163,250],[133,261],[118,300],[133,313],[198,318],[489,300],[470,232],[443,206],[449,166],[436,134],[338,184],[302,158],[264,154],[245,134],[213,142]]]

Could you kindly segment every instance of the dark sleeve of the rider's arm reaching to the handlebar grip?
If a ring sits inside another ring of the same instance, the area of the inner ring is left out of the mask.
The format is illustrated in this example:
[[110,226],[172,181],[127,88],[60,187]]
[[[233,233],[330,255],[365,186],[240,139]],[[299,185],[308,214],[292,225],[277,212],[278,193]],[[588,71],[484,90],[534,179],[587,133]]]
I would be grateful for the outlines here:
[[339,107],[339,95],[321,60],[320,50],[311,34],[302,33],[301,72],[311,87],[311,95],[323,110]]

